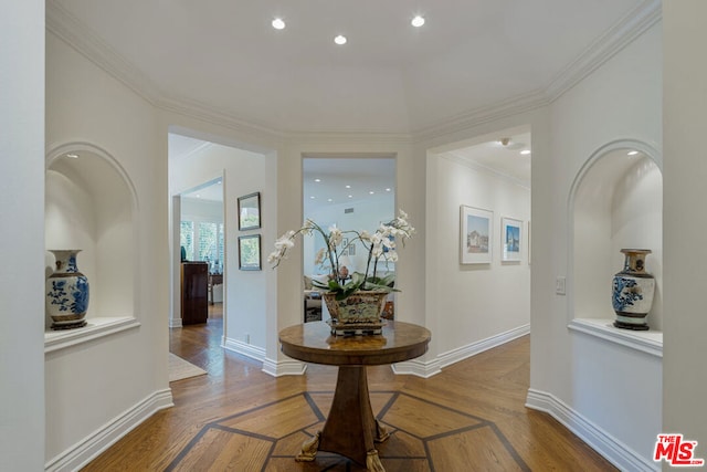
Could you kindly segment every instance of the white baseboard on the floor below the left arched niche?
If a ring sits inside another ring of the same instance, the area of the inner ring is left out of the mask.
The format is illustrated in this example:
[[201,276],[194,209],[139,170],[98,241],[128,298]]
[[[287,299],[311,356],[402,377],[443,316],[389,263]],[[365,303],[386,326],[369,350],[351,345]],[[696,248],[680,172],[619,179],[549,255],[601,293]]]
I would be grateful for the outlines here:
[[158,390],[82,441],[50,459],[44,464],[44,470],[52,472],[77,471],[157,411],[173,406],[172,391],[170,389]]

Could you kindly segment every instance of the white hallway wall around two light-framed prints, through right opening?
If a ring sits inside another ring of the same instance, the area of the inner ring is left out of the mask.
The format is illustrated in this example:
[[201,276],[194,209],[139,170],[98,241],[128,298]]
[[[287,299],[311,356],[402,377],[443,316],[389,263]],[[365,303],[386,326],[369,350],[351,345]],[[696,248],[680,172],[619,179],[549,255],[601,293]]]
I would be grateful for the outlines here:
[[[428,268],[429,287],[434,294],[437,355],[460,360],[452,353],[475,343],[526,326],[530,322],[530,266],[527,259],[527,222],[530,220],[530,189],[508,178],[465,165],[454,154],[429,160],[435,225],[431,229],[434,262]],[[460,264],[460,206],[494,212],[492,263]],[[520,262],[502,262],[500,219],[523,221]],[[449,360],[443,361],[447,364]]]

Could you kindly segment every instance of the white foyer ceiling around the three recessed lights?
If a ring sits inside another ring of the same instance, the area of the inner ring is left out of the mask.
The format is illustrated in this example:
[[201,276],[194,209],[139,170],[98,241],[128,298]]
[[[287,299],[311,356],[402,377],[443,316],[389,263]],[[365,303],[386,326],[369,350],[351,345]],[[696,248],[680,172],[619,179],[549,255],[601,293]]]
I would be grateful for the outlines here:
[[[646,10],[659,1],[46,2],[51,32],[99,54],[154,103],[277,133],[414,134],[547,101]],[[422,28],[410,24],[418,13]]]

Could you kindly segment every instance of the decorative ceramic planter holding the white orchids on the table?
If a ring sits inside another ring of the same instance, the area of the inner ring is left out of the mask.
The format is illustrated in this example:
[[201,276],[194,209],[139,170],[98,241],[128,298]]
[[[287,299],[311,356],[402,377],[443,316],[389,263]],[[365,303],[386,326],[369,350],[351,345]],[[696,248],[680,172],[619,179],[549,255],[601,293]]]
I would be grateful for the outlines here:
[[359,291],[344,300],[336,300],[336,294],[330,292],[323,296],[331,318],[338,324],[380,324],[388,292]]

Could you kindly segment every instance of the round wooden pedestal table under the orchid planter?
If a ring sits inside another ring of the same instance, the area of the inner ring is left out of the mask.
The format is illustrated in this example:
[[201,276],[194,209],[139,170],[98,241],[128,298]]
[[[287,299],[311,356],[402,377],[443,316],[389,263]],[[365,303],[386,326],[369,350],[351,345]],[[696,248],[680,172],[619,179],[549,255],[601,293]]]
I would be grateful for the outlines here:
[[317,451],[336,452],[384,472],[373,442],[388,439],[373,417],[366,366],[401,363],[428,350],[430,331],[411,323],[388,321],[380,335],[334,336],[325,322],[289,326],[279,332],[285,355],[305,363],[338,366],[334,401],[324,429],[306,441],[297,461],[314,461]]

